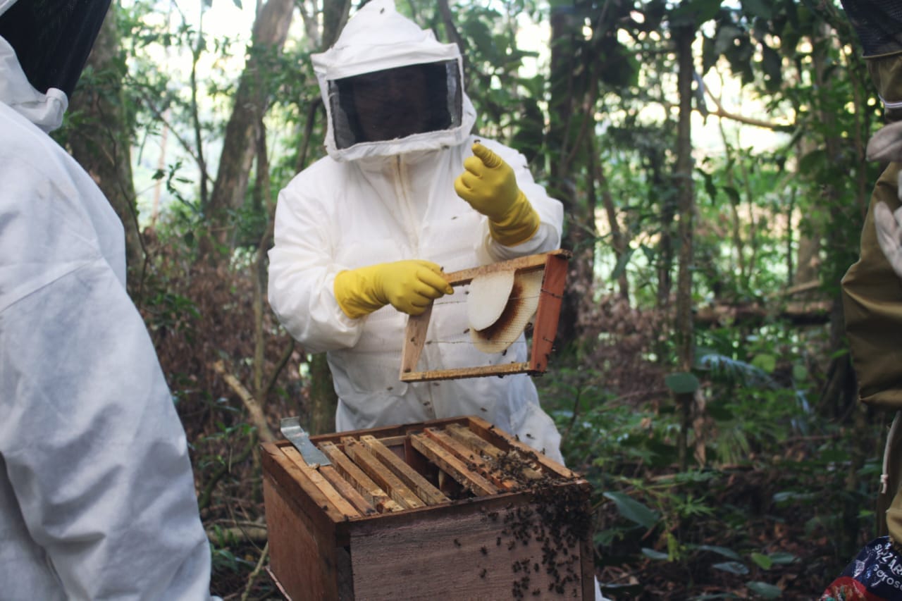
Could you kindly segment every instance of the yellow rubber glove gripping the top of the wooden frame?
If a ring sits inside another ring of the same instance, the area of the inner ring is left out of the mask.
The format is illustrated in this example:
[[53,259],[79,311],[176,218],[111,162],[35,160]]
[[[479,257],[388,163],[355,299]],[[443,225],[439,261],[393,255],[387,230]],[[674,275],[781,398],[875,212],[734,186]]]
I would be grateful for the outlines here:
[[430,261],[380,263],[336,275],[336,301],[349,318],[357,319],[391,306],[402,313],[419,315],[428,304],[454,288],[442,270]]

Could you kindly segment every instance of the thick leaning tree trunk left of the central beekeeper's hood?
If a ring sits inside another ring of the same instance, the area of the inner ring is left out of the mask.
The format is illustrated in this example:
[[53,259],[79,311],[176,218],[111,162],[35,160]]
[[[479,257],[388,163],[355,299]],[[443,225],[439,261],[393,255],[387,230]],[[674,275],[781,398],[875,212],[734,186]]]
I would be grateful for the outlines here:
[[200,252],[207,258],[212,258],[217,246],[232,244],[234,226],[229,215],[244,203],[256,153],[257,129],[269,106],[270,94],[265,83],[270,69],[268,62],[273,55],[281,53],[293,10],[292,0],[268,0],[253,23],[251,48],[238,81],[232,116],[226,125],[216,183],[205,207],[210,235],[202,239]]

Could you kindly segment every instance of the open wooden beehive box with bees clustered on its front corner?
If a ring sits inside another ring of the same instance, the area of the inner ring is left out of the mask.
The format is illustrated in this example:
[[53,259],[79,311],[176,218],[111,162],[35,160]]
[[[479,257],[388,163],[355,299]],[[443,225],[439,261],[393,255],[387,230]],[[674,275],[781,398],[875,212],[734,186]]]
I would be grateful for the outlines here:
[[262,445],[269,571],[302,599],[594,598],[589,484],[476,417]]

